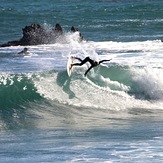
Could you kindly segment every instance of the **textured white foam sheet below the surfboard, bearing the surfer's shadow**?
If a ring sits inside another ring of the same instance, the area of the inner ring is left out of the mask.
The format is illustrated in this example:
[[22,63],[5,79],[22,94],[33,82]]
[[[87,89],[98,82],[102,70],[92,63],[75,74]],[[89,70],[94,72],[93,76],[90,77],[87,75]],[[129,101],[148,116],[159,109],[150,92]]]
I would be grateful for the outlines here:
[[[61,74],[63,75],[63,74]],[[128,108],[161,109],[160,103],[152,103],[135,99],[124,90],[111,90],[109,87],[100,87],[88,78],[76,74],[60,83],[63,76],[58,73],[37,76],[34,79],[35,87],[43,97],[63,104],[77,107],[91,107],[109,110],[126,110]]]

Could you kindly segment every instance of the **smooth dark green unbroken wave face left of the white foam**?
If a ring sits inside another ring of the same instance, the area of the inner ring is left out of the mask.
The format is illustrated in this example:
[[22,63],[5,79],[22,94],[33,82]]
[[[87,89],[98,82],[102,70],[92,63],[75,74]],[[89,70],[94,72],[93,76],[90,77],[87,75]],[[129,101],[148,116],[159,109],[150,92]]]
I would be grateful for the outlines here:
[[21,105],[23,102],[40,98],[27,75],[5,74],[0,77],[1,108]]

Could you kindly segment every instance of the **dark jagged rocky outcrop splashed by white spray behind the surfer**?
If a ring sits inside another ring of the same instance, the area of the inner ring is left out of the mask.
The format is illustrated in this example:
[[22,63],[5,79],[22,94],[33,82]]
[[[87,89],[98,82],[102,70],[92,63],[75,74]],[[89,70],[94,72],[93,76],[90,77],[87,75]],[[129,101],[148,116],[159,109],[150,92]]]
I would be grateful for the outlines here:
[[[9,41],[5,44],[0,44],[0,47],[18,46],[18,45],[39,45],[39,44],[52,44],[57,42],[57,38],[62,37],[63,30],[60,24],[56,24],[52,31],[45,30],[39,24],[31,24],[22,29],[23,37],[19,40]],[[78,28],[71,27],[72,32],[78,31]],[[80,34],[80,41],[83,37]]]

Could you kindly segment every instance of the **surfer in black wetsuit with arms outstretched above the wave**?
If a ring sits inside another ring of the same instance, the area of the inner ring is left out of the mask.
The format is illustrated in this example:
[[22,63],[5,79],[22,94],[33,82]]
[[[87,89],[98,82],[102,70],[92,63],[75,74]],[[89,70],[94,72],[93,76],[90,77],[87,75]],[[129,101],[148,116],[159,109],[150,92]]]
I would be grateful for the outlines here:
[[101,64],[102,62],[107,62],[107,61],[110,61],[111,59],[109,60],[101,60],[101,61],[95,61],[95,60],[92,60],[91,58],[89,57],[86,57],[85,59],[80,59],[78,57],[72,57],[72,59],[77,59],[80,61],[80,63],[74,63],[74,64],[71,64],[71,68],[73,66],[82,66],[83,64],[85,64],[86,62],[89,62],[91,64],[91,66],[88,68],[88,70],[85,72],[84,76],[87,75],[87,73],[93,68],[93,67],[96,67],[98,66],[99,64]]

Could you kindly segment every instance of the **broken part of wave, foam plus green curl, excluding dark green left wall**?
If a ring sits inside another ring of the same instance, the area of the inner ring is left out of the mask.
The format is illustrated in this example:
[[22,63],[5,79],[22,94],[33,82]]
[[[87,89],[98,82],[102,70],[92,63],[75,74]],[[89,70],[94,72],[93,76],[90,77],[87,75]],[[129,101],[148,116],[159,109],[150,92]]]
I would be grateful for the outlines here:
[[99,66],[85,78],[86,68],[74,68],[70,78],[66,71],[43,73],[43,77],[34,79],[34,85],[44,98],[77,107],[123,110],[142,105],[143,101],[149,106],[153,101],[162,101],[163,80],[153,68],[144,71],[142,67],[117,64]]

